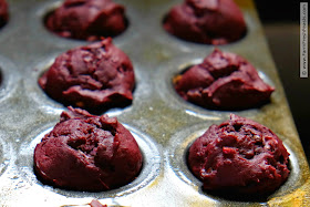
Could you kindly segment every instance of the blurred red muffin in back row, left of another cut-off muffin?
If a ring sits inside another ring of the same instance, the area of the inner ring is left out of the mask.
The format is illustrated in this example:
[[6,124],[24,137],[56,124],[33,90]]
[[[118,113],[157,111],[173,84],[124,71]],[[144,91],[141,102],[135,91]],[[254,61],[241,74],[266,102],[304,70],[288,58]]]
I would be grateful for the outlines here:
[[45,27],[63,38],[99,40],[126,29],[125,8],[112,0],[65,0],[46,17]]

